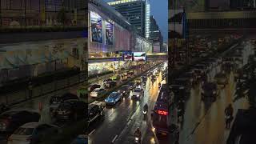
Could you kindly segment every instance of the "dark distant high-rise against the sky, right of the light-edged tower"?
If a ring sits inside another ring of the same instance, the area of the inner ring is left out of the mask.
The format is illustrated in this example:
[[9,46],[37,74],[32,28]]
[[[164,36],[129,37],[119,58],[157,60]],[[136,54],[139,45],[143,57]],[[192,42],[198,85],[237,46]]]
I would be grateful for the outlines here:
[[150,16],[150,37],[153,42],[153,52],[162,52],[162,34],[159,30],[158,23],[154,19],[153,15]]

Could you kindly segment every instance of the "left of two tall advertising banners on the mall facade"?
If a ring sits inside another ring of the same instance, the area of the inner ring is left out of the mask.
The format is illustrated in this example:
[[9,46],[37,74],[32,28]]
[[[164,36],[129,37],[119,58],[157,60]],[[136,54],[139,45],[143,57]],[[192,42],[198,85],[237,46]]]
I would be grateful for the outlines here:
[[94,13],[90,12],[90,25],[91,25],[91,41],[102,43],[102,18]]

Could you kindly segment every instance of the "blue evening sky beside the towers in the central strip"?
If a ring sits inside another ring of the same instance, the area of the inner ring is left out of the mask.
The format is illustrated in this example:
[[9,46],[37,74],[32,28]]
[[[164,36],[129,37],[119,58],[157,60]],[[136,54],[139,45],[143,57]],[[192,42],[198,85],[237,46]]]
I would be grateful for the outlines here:
[[[114,0],[104,0],[105,2],[112,2]],[[150,15],[153,15],[158,26],[162,32],[163,41],[168,39],[168,0],[149,0],[150,1]]]

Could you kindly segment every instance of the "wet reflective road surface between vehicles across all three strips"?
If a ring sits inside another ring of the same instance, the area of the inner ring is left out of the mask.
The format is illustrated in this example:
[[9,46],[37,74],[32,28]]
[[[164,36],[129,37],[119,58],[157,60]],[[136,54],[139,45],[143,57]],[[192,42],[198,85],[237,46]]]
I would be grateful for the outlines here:
[[[248,45],[250,47],[250,45]],[[247,49],[247,45],[245,46]],[[245,54],[249,54],[250,50],[246,50]],[[246,58],[246,56],[244,56]],[[220,70],[219,67],[211,70],[210,78],[214,77]],[[138,101],[131,100],[130,96],[126,96],[121,102],[115,106],[106,107],[106,115],[104,121],[94,122],[90,126],[90,139],[94,144],[101,143],[133,143],[134,130],[140,127],[142,130],[142,143],[172,143],[173,138],[170,136],[157,136],[151,130],[150,114],[147,118],[143,118],[142,107],[145,103],[152,110],[154,103],[158,98],[158,82],[161,81],[161,74],[157,81],[152,83],[148,78],[145,86],[145,94]],[[165,82],[165,81],[163,81]],[[229,134],[229,130],[225,129],[224,109],[234,99],[234,74],[229,75],[229,84],[221,90],[217,101],[202,102],[200,85],[194,86],[191,90],[189,99],[186,101],[186,111],[184,121],[179,124],[181,133],[179,142],[182,144],[215,144],[225,143]],[[59,93],[65,93],[69,90],[62,90]],[[58,94],[58,93],[57,93]],[[52,123],[49,111],[50,95],[35,98],[29,102],[23,102],[14,106],[14,109],[26,108],[30,110],[38,110],[38,103],[42,102],[42,119],[41,122]],[[234,114],[238,108],[247,108],[248,102],[246,98],[239,99],[234,102]]]

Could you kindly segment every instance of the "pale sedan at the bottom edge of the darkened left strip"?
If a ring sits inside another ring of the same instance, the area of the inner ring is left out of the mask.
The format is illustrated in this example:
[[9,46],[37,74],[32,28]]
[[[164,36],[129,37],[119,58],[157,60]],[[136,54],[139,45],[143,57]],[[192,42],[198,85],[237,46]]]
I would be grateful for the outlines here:
[[43,142],[49,136],[58,134],[58,126],[46,123],[29,122],[20,126],[8,138],[8,144],[38,143]]

